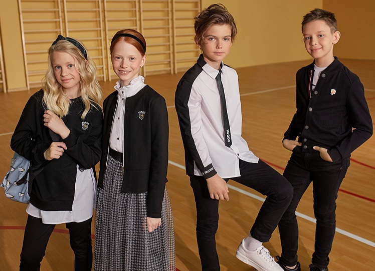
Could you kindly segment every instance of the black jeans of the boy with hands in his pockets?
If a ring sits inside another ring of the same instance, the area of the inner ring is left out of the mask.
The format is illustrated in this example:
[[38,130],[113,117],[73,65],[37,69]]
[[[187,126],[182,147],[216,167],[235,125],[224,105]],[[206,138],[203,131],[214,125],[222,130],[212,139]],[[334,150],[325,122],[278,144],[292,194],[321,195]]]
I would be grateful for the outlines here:
[[279,223],[281,263],[287,266],[297,263],[298,224],[295,211],[303,193],[312,182],[316,218],[312,263],[319,267],[328,266],[328,254],[336,228],[337,192],[349,165],[349,157],[328,162],[320,157],[318,151],[302,152],[300,146],[293,149],[283,174],[292,184],[294,192],[292,202]]

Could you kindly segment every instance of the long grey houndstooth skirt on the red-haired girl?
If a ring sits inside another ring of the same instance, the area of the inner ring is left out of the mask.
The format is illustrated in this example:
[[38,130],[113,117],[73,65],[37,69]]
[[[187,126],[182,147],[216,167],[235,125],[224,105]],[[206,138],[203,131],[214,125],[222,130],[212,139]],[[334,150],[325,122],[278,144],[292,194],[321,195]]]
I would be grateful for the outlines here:
[[144,193],[121,193],[121,162],[108,156],[96,203],[94,270],[175,271],[173,217],[167,190],[161,226],[148,232]]

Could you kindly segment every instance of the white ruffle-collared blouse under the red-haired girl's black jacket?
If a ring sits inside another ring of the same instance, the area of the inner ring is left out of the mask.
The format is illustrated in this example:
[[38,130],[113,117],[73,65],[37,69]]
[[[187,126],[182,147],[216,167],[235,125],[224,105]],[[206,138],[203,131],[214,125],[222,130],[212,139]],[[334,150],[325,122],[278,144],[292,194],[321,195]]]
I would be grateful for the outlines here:
[[131,80],[130,84],[120,86],[120,80],[116,82],[114,88],[117,90],[117,107],[113,116],[113,124],[110,136],[110,148],[123,152],[124,148],[124,117],[125,117],[125,100],[139,92],[146,84],[144,77],[139,75]]

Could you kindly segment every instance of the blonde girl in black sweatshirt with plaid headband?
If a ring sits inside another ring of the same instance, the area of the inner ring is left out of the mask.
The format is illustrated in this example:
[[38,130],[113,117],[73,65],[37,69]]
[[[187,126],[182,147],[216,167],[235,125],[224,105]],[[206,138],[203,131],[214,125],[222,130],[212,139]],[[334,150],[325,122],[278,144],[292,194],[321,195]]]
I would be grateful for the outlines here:
[[31,162],[20,270],[39,270],[56,224],[66,223],[74,269],[91,270],[95,164],[101,155],[101,88],[79,41],[59,35],[43,88],[28,100],[11,147]]

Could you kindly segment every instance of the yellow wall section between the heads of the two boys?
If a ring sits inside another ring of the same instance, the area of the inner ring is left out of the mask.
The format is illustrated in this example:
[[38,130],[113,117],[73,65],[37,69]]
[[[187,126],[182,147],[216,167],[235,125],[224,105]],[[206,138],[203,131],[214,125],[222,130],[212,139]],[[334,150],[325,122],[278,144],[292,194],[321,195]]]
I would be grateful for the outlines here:
[[[202,8],[218,1],[202,0]],[[233,67],[309,59],[302,16],[323,0],[221,0],[236,20],[238,36],[226,63]],[[241,2],[241,4],[239,4]]]

